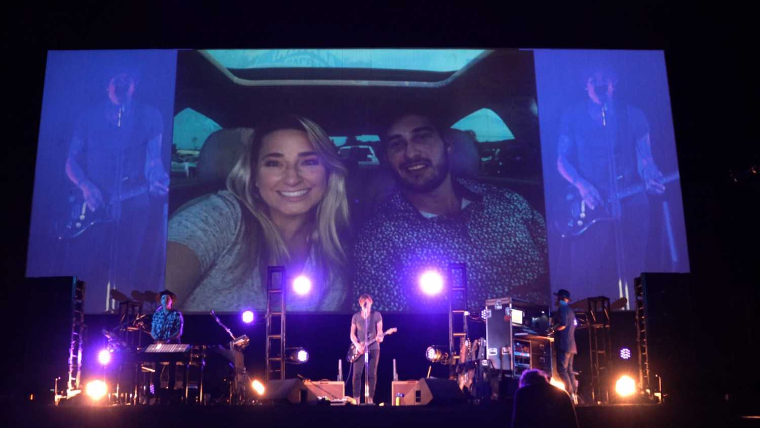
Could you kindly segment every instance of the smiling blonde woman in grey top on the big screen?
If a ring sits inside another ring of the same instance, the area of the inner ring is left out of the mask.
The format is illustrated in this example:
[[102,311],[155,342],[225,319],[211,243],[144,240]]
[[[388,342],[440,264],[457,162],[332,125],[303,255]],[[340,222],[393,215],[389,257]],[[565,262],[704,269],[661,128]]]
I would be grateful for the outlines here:
[[[185,312],[266,307],[267,267],[305,274],[312,289],[289,293],[289,310],[347,305],[346,168],[319,125],[281,116],[255,130],[227,190],[169,219],[166,287]],[[290,289],[292,290],[292,289]]]

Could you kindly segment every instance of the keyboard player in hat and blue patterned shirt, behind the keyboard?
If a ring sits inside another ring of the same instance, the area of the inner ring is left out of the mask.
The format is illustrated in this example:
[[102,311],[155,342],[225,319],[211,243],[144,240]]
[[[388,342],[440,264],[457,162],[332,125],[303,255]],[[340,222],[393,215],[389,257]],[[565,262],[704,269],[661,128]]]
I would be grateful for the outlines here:
[[[153,322],[150,325],[150,336],[153,337],[154,344],[179,344],[179,338],[182,336],[182,327],[185,324],[185,320],[182,319],[182,312],[179,312],[173,307],[177,296],[169,290],[163,290],[158,293],[158,296],[161,300],[161,307],[153,314]],[[169,392],[167,394],[169,397],[167,398],[171,399],[176,383],[176,363],[161,363],[162,375],[163,371],[166,369],[169,370],[169,382],[167,385],[169,387]],[[157,385],[158,387],[160,387],[160,379],[162,377],[163,376],[159,376],[157,379],[159,381]],[[154,385],[156,385],[155,382]],[[160,388],[157,388],[156,392],[158,392],[158,389]],[[161,397],[160,394],[157,395]],[[164,397],[161,398],[162,401],[165,399]]]

